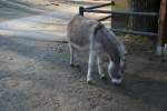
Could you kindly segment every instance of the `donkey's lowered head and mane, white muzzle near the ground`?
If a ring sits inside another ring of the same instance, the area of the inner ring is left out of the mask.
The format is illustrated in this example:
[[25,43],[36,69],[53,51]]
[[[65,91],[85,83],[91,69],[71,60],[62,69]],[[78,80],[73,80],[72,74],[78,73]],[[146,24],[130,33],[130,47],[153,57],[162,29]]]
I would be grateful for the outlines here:
[[126,48],[122,42],[111,33],[111,40],[115,41],[111,46],[112,53],[110,54],[110,62],[108,65],[108,73],[112,83],[120,84],[126,69]]

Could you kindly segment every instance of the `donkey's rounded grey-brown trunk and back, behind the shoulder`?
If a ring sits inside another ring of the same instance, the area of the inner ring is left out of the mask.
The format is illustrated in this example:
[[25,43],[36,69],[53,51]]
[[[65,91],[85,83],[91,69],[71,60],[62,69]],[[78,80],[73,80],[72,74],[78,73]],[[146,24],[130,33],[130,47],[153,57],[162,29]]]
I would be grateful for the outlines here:
[[72,46],[84,48],[89,46],[90,39],[95,34],[95,30],[101,23],[81,16],[76,16],[68,23],[68,39]]

